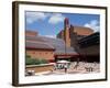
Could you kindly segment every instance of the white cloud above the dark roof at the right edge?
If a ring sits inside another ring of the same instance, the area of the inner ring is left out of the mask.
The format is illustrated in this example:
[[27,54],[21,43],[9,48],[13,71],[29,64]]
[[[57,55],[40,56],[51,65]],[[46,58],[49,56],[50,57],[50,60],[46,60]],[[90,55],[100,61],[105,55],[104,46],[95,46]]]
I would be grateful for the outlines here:
[[89,23],[86,23],[84,26],[92,29],[95,32],[98,32],[100,30],[99,22],[97,20],[92,20]]

